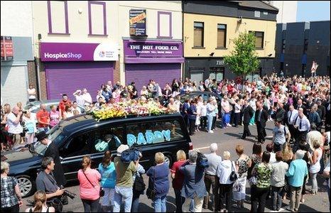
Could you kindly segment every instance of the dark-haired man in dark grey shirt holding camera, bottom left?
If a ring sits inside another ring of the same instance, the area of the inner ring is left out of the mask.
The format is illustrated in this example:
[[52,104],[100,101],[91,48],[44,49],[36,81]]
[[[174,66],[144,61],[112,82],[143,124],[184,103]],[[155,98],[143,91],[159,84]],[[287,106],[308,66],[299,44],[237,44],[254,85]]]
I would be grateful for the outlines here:
[[51,157],[45,157],[41,161],[42,170],[38,174],[36,178],[36,187],[37,190],[42,190],[46,192],[47,200],[53,206],[53,204],[59,204],[55,207],[56,212],[62,212],[63,204],[60,200],[60,197],[63,195],[65,190],[62,190],[58,187],[58,183],[56,182],[53,176],[54,170],[54,160]]

